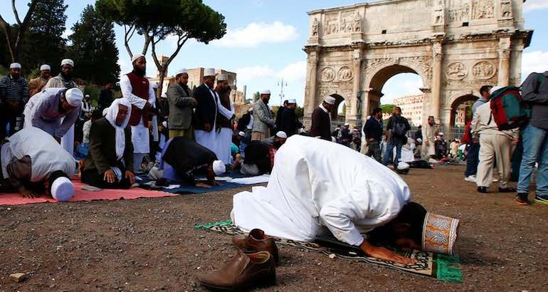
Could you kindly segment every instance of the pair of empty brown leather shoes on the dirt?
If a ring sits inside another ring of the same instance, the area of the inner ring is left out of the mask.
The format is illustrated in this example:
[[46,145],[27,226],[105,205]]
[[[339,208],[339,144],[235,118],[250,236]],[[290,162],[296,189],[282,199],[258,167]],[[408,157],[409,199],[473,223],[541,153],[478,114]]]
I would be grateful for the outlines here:
[[247,291],[276,284],[278,248],[274,239],[260,229],[253,229],[247,237],[234,236],[232,242],[238,248],[236,255],[217,271],[199,276],[202,286],[216,290]]

